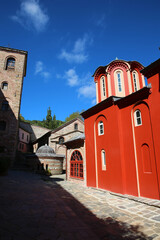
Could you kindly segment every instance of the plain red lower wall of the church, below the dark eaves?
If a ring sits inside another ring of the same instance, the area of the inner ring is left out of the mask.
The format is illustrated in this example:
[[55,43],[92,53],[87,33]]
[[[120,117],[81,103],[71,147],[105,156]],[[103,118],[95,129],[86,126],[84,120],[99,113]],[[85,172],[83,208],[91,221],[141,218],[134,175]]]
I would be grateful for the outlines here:
[[[88,186],[159,199],[160,129],[152,97],[124,107],[112,105],[85,119]],[[142,125],[137,127],[133,116],[136,109],[142,115]],[[100,136],[99,121],[104,123],[104,135]],[[106,152],[106,170],[102,170],[102,149]]]

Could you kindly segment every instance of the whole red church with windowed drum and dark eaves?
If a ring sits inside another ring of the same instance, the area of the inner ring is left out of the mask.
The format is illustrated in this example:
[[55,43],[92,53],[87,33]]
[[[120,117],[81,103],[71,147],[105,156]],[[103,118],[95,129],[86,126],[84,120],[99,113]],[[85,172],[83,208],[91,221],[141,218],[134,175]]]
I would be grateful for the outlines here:
[[94,81],[97,104],[82,113],[87,186],[160,199],[160,59],[115,60]]

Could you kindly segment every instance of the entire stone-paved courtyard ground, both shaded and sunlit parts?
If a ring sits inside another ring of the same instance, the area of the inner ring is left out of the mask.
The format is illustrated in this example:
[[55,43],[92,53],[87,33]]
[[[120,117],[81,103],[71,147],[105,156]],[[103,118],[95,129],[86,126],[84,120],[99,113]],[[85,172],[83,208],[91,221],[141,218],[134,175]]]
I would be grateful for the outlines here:
[[160,201],[10,171],[0,177],[0,240],[160,239]]

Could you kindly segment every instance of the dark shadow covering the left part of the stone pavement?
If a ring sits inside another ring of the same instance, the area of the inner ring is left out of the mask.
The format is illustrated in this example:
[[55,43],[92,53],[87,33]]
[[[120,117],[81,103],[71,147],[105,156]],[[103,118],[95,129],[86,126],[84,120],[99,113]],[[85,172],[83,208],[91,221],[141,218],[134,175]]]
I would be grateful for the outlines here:
[[97,218],[55,179],[12,172],[0,188],[0,240],[149,239],[138,226]]

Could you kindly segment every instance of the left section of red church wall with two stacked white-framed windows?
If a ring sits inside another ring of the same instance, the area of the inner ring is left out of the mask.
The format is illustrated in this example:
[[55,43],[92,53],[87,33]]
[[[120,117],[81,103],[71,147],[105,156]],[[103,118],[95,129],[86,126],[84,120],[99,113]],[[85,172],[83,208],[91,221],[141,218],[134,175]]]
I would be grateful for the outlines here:
[[[113,106],[85,120],[86,169],[87,185],[96,187],[95,158],[97,157],[97,187],[122,192],[122,166],[119,157],[121,153],[117,111],[117,106]],[[104,122],[105,134],[98,136],[97,125],[100,120]],[[106,152],[105,171],[102,170],[101,150]]]

